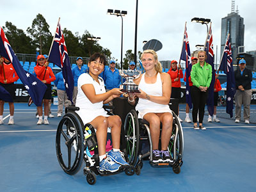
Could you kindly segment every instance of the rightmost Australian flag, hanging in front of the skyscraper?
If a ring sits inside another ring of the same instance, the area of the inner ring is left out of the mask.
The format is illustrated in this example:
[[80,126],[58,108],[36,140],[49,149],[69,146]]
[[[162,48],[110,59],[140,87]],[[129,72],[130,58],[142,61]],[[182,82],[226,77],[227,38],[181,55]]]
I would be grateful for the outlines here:
[[230,35],[228,34],[227,42],[223,51],[223,55],[220,63],[220,70],[223,70],[227,74],[227,107],[226,112],[230,115],[230,118],[233,117],[233,97],[236,93],[236,81],[234,76],[234,68],[232,63],[232,51],[230,44]]

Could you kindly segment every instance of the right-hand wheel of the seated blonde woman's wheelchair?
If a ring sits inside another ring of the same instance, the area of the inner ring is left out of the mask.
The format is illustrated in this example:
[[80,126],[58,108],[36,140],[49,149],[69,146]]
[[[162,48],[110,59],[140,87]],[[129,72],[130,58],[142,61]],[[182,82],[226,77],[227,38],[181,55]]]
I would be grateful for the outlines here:
[[177,167],[177,166],[181,166],[182,164],[184,139],[183,139],[182,126],[179,122],[178,116],[174,112],[173,112],[172,128],[173,128],[172,136],[170,139],[170,143],[168,145],[168,150],[170,151],[170,154],[172,154],[173,160],[175,162],[175,166]]

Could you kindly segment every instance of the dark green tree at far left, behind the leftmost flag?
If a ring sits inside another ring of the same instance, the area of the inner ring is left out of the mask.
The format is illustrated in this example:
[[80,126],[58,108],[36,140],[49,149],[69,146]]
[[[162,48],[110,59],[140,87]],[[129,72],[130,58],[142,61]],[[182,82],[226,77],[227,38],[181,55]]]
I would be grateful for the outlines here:
[[16,53],[35,53],[36,47],[32,44],[32,39],[27,36],[22,29],[17,29],[12,22],[6,21],[3,26],[4,33]]

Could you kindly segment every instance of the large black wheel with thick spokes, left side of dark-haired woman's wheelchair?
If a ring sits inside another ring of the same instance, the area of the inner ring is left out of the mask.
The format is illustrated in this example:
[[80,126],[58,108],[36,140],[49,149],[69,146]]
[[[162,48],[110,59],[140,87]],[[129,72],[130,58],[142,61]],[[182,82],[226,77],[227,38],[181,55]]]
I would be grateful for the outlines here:
[[75,112],[66,113],[56,132],[56,154],[64,172],[74,175],[83,162],[83,124]]

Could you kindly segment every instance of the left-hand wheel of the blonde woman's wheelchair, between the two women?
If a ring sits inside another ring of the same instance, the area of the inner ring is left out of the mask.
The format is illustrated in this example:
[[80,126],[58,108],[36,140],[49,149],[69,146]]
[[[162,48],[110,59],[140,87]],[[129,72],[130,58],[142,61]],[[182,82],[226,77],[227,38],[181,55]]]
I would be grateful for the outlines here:
[[134,166],[138,157],[140,141],[139,121],[134,109],[132,109],[125,117],[124,131],[128,163]]

